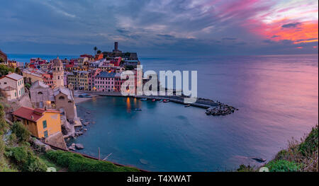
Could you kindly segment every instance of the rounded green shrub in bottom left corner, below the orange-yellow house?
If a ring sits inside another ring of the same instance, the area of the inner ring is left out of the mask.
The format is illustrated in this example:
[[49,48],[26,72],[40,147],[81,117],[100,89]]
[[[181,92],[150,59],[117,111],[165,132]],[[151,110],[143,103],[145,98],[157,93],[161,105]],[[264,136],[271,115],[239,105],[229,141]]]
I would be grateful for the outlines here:
[[6,156],[18,165],[23,172],[45,172],[47,166],[26,146],[12,147],[6,151]]

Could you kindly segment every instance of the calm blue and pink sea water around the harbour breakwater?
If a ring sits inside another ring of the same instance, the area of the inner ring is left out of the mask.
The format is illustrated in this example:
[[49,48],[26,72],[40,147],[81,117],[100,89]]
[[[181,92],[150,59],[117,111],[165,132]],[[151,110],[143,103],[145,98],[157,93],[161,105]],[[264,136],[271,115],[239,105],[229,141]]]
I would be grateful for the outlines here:
[[97,98],[78,107],[79,116],[96,122],[75,140],[82,153],[98,156],[100,147],[102,158],[112,153],[109,161],[145,170],[223,171],[256,165],[250,156],[272,158],[318,123],[318,55],[141,62],[145,70],[196,70],[198,96],[240,110],[211,117],[176,103]]

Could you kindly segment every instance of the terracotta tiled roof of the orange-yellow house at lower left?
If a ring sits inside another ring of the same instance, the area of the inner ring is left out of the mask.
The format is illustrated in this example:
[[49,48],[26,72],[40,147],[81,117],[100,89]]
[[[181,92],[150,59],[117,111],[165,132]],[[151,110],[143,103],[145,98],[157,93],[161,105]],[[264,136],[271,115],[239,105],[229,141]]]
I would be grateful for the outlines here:
[[43,114],[45,112],[60,113],[57,110],[44,110],[41,108],[33,109],[30,107],[20,107],[18,108],[18,110],[14,111],[12,114],[32,122],[37,122],[41,117],[43,117]]

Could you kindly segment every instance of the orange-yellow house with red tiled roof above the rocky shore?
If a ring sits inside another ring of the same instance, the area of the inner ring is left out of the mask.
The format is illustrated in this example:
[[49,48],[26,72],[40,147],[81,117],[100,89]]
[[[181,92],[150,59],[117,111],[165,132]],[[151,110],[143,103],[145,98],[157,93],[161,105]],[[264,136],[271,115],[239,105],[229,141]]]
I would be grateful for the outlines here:
[[48,138],[61,132],[60,112],[57,110],[20,107],[12,115],[13,120],[22,122],[37,138]]

